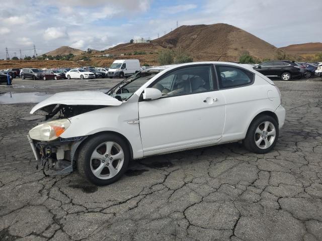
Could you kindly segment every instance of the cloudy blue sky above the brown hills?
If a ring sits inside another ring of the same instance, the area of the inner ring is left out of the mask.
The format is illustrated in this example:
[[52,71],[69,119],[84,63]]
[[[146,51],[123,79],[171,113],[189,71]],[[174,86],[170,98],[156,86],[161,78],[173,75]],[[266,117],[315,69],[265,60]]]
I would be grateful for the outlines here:
[[107,49],[157,38],[181,25],[226,23],[275,45],[322,42],[322,1],[7,0],[0,9],[0,58],[60,46]]

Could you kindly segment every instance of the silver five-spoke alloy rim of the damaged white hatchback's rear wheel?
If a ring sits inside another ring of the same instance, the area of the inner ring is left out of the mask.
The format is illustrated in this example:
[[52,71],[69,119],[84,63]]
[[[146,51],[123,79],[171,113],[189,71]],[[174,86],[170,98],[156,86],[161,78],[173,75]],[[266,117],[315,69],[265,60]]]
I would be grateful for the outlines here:
[[262,122],[255,131],[255,143],[260,149],[267,149],[274,143],[276,130],[271,122]]

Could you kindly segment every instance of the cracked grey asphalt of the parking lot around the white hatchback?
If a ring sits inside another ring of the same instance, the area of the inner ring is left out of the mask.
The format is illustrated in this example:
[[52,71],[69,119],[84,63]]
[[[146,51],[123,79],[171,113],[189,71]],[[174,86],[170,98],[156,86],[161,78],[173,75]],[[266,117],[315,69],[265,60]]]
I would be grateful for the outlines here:
[[36,172],[26,134],[37,121],[21,119],[33,104],[1,104],[0,240],[322,240],[322,82],[275,83],[287,112],[271,153],[232,143],[150,157],[105,187]]

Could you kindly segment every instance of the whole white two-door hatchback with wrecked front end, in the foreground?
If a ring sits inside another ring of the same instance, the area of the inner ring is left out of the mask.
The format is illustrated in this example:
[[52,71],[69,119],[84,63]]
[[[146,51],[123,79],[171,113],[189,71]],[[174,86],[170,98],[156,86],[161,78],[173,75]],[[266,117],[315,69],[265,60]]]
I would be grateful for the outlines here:
[[56,93],[30,113],[40,109],[51,120],[29,132],[36,160],[52,162],[58,173],[75,163],[96,185],[115,182],[130,160],[152,155],[237,141],[267,153],[285,119],[270,79],[227,62],[150,68],[107,93]]

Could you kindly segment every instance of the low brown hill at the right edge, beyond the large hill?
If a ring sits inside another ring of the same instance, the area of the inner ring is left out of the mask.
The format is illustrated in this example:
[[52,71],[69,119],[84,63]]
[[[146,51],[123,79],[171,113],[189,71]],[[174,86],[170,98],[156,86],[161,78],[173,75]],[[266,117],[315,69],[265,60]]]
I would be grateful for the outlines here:
[[280,49],[290,54],[308,57],[322,52],[322,43],[293,44]]

